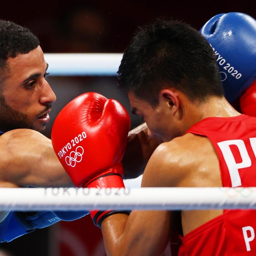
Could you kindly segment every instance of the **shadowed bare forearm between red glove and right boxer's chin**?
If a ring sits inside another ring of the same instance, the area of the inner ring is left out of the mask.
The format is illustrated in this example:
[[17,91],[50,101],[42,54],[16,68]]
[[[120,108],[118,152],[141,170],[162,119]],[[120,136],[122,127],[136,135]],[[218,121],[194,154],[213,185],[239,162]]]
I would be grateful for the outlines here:
[[140,176],[157,146],[158,141],[148,136],[146,123],[131,130],[128,134],[123,158],[124,179],[133,179]]

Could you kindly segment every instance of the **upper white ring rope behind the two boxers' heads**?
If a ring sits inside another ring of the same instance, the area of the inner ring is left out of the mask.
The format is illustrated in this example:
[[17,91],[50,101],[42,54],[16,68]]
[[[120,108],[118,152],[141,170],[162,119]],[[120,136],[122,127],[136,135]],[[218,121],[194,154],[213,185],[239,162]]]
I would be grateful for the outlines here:
[[122,53],[44,53],[50,76],[116,76]]

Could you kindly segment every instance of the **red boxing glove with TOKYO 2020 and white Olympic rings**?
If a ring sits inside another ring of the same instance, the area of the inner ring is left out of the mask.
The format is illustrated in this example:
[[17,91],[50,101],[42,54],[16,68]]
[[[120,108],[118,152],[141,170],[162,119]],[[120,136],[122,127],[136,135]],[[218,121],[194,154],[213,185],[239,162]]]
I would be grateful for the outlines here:
[[[60,111],[52,126],[52,146],[77,187],[124,188],[121,160],[129,129],[130,117],[118,101],[88,92]],[[112,213],[91,215],[100,227]]]

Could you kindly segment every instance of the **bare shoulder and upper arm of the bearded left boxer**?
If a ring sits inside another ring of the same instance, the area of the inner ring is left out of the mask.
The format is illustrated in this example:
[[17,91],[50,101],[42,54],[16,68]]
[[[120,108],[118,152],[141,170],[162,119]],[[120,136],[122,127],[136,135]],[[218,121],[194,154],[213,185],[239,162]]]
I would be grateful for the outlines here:
[[39,132],[17,129],[0,137],[0,187],[70,187],[73,182]]

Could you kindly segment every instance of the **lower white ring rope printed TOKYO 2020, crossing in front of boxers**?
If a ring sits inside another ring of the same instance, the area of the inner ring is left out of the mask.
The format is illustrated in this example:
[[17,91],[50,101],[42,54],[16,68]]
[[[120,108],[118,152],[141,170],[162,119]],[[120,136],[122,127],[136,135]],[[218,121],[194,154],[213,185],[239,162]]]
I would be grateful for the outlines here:
[[0,211],[256,209],[256,188],[0,188]]

